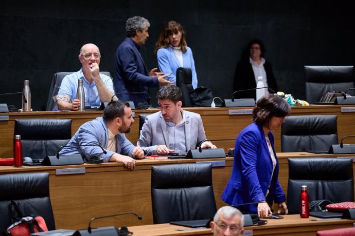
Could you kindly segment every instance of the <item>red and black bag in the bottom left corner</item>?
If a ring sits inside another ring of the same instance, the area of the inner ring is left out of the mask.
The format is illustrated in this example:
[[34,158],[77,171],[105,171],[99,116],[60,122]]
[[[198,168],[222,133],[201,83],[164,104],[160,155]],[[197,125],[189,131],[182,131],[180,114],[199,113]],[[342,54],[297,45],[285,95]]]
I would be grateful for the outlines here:
[[14,201],[10,202],[9,215],[12,224],[7,227],[7,235],[29,236],[31,233],[48,231],[43,217],[24,215]]

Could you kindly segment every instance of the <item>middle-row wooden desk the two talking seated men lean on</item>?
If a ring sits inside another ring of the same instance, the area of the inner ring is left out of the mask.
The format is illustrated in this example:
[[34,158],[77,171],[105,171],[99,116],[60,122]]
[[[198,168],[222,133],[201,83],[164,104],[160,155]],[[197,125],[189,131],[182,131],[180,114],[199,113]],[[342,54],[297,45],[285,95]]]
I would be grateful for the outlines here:
[[[287,194],[288,158],[307,158],[335,155],[319,155],[306,152],[277,153],[280,171],[279,181]],[[343,155],[346,156],[346,155]],[[217,207],[226,205],[221,200],[222,192],[229,180],[233,158],[203,160],[138,160],[134,170],[128,170],[121,163],[84,164],[75,166],[0,166],[0,174],[48,172],[50,200],[54,211],[56,228],[83,229],[93,217],[133,211],[143,220],[133,215],[123,215],[95,221],[93,227],[110,225],[150,225],[153,214],[150,195],[151,167],[175,163],[225,162],[225,166],[212,168],[212,181]],[[355,166],[353,164],[353,170]],[[85,168],[84,174],[57,175],[61,169]],[[118,222],[118,223],[117,223]]]

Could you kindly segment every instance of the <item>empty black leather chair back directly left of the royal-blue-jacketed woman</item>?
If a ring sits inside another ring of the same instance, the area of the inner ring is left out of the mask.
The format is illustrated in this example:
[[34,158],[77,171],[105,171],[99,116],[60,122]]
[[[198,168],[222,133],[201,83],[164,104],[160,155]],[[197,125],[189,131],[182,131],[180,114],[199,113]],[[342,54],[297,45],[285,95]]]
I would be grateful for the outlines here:
[[217,211],[211,164],[152,166],[151,195],[154,224],[210,219]]

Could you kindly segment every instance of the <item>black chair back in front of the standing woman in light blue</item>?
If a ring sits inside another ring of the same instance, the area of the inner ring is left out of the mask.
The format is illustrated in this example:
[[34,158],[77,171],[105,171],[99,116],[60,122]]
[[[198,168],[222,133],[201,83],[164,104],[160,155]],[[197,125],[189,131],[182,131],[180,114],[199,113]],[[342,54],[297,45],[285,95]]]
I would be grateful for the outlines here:
[[182,107],[192,107],[190,92],[193,91],[192,72],[188,67],[179,67],[176,69],[176,86],[182,92]]

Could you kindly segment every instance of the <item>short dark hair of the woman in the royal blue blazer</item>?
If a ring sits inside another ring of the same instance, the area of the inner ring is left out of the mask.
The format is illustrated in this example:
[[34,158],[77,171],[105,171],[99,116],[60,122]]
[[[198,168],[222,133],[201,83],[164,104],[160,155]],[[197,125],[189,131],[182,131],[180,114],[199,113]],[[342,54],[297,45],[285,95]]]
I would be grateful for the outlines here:
[[290,105],[275,94],[263,95],[253,110],[253,122],[269,127],[271,117],[286,117],[290,114]]

